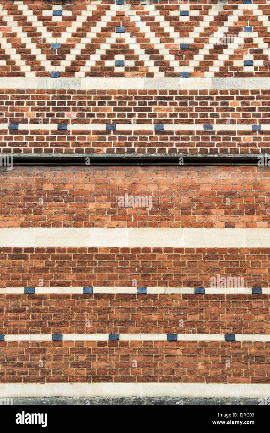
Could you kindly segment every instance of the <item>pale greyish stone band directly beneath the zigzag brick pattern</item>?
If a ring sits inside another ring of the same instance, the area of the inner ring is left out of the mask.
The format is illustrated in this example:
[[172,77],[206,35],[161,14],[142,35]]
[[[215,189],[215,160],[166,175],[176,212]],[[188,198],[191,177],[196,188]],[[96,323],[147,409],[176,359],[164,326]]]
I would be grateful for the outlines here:
[[[19,87],[18,87],[19,86]],[[27,78],[1,77],[1,89],[268,89],[269,78]]]

